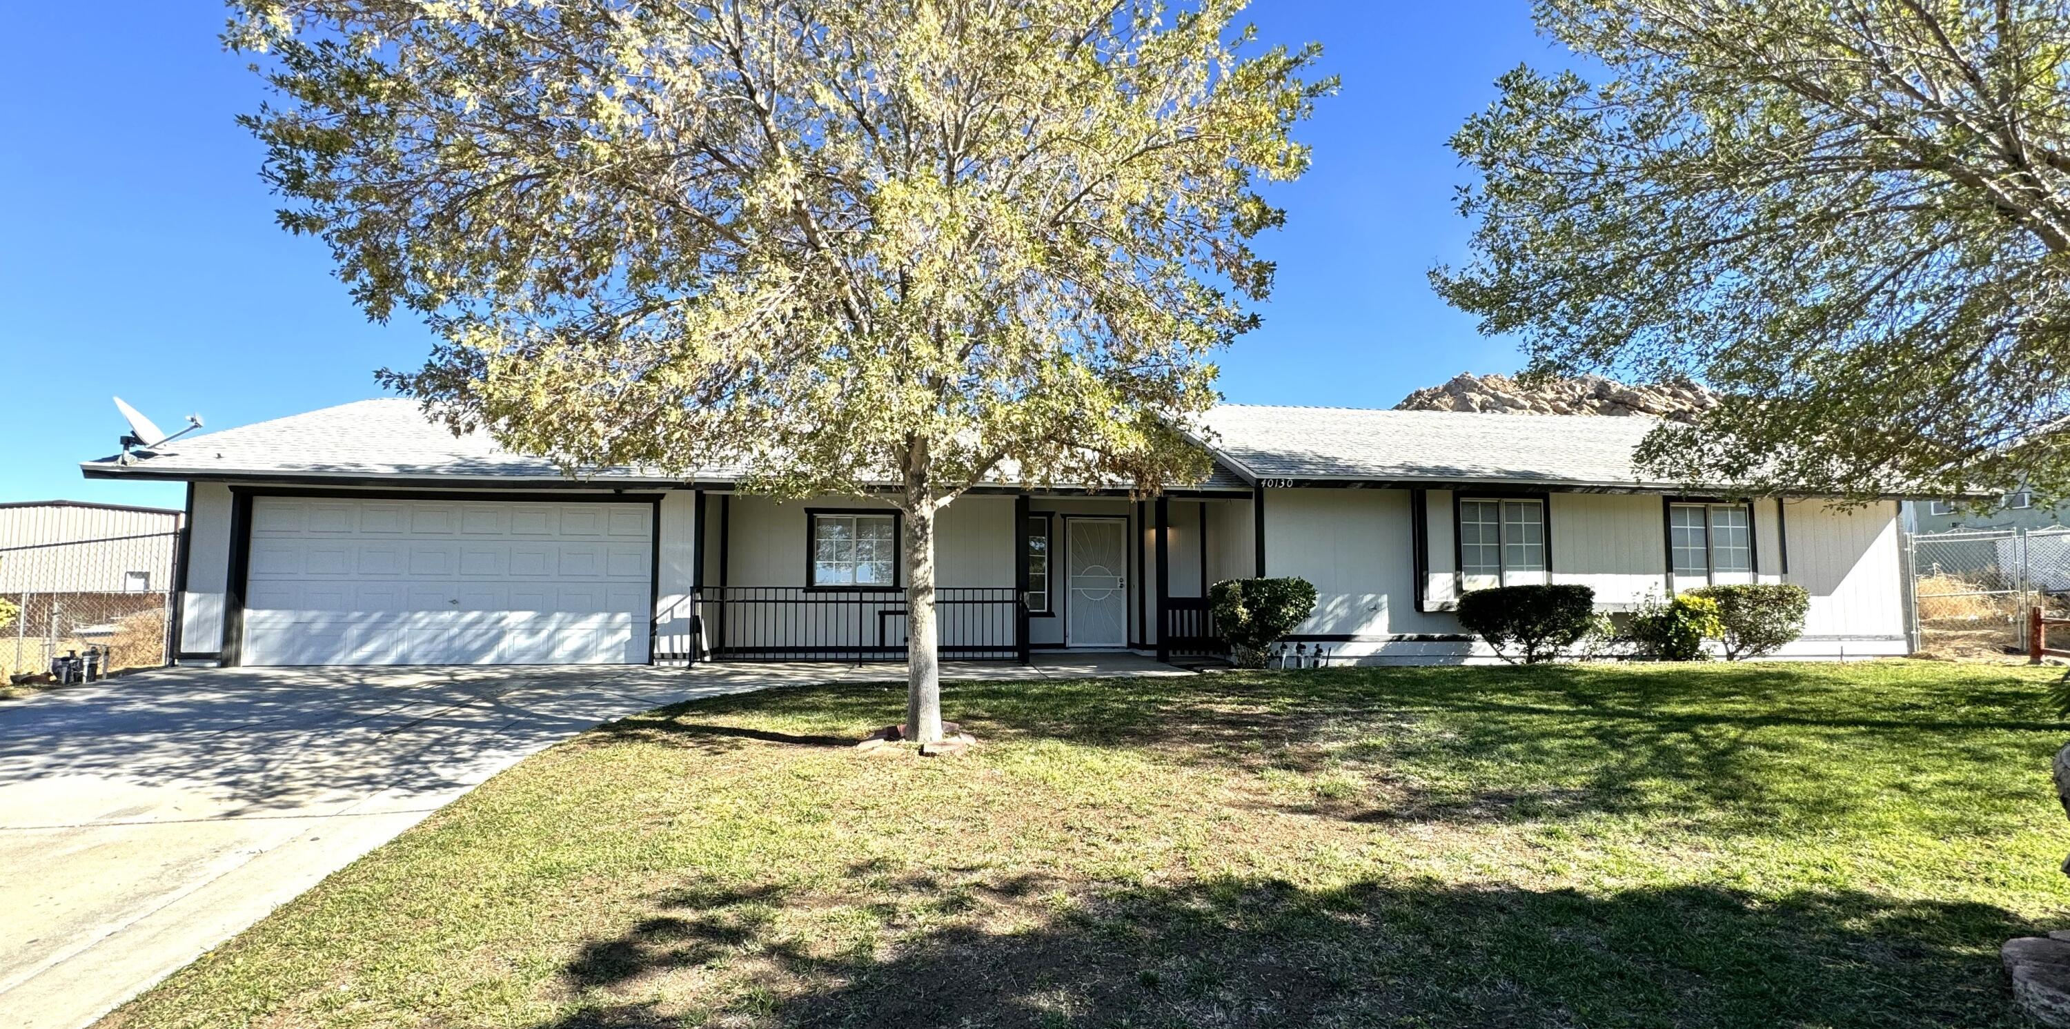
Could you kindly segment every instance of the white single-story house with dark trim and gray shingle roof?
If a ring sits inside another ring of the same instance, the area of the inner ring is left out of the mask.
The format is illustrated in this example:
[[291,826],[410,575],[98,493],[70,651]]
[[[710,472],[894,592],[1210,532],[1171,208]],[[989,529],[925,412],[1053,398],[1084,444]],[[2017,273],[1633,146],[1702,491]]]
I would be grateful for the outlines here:
[[[948,658],[1217,648],[1213,582],[1302,576],[1294,642],[1331,663],[1486,658],[1463,590],[1579,582],[1604,609],[1710,582],[1795,582],[1782,656],[1906,652],[1898,499],[1689,493],[1635,476],[1646,418],[1221,406],[1215,472],[958,497],[938,532]],[[91,478],[186,482],[178,660],[524,665],[903,658],[898,516],[778,503],[737,472],[569,478],[410,400],[366,400],[157,451]]]

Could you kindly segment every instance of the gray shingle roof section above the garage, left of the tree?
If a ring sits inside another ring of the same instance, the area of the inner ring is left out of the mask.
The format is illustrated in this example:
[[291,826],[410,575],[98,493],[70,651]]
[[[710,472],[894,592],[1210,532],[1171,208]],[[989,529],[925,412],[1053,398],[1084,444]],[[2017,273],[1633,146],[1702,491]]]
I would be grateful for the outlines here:
[[[290,414],[269,422],[182,437],[122,466],[114,458],[83,462],[93,476],[149,478],[435,478],[451,484],[565,482],[544,458],[509,453],[489,437],[453,437],[424,416],[414,400],[381,398]],[[598,468],[582,478],[602,484],[731,482],[739,468],[700,468],[664,476],[640,468]],[[1248,489],[1242,476],[1217,468],[1201,489]]]

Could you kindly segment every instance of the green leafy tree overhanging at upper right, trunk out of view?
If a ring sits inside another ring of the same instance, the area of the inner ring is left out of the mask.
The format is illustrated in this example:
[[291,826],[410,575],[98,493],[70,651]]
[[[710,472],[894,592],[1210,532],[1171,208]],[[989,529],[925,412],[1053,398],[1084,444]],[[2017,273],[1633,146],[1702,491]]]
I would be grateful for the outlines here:
[[2070,6],[1538,0],[1453,147],[1439,292],[1536,373],[1728,393],[1642,462],[1691,480],[2070,489]]

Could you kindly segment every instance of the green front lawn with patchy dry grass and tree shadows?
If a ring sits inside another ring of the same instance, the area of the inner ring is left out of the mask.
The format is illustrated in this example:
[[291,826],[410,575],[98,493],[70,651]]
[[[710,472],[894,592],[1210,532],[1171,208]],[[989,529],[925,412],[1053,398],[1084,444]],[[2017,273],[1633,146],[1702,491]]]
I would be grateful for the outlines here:
[[2022,1025],[2070,925],[2047,673],[1364,669],[903,692],[598,729],[126,1027]]

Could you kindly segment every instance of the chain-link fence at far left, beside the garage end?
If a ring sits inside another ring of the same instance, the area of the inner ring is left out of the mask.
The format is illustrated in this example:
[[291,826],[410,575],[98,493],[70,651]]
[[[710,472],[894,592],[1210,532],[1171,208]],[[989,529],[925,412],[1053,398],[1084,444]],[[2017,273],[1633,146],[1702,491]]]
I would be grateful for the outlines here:
[[168,663],[178,532],[0,547],[0,671],[97,648],[106,669]]

